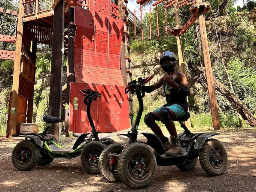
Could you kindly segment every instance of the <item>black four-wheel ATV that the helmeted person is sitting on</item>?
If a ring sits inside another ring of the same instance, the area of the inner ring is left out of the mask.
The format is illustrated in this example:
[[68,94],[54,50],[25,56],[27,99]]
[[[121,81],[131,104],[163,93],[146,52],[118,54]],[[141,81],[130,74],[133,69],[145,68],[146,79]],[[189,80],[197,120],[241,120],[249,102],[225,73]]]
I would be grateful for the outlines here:
[[138,82],[133,80],[125,89],[125,93],[136,93],[139,101],[138,114],[131,132],[126,135],[129,137],[128,144],[122,146],[114,143],[102,151],[99,158],[102,176],[109,182],[122,180],[131,188],[143,188],[154,179],[157,164],[176,165],[182,171],[192,170],[198,157],[203,170],[209,175],[218,176],[224,173],[227,167],[227,152],[218,140],[210,138],[219,133],[191,133],[184,124],[190,117],[189,113],[174,120],[179,121],[184,129],[182,134],[178,134],[183,151],[181,155],[166,156],[163,144],[155,134],[142,133],[147,142],[137,141],[137,130],[143,112],[142,98],[145,96],[142,85],[150,79],[152,76],[147,79],[139,78]]

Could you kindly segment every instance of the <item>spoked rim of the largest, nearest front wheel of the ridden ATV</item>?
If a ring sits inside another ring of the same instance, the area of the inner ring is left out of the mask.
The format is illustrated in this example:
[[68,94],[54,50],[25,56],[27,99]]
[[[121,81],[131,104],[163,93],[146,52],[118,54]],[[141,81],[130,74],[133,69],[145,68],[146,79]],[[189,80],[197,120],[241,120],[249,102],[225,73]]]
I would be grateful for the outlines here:
[[151,170],[150,157],[143,152],[134,153],[129,159],[129,172],[134,179],[145,179]]

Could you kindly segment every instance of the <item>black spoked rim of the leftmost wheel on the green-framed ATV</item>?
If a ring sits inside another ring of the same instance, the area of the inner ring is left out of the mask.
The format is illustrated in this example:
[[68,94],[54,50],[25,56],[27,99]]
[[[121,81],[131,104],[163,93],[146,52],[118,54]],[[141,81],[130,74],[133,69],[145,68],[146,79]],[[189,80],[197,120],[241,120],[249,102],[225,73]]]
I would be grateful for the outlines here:
[[26,165],[32,158],[32,151],[29,147],[22,146],[16,152],[16,161],[20,165]]

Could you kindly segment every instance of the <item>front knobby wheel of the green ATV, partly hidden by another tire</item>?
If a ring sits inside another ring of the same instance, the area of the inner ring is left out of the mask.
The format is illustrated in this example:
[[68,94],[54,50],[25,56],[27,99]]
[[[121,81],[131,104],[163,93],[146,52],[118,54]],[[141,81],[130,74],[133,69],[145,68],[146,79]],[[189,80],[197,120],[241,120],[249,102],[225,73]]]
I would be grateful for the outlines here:
[[81,164],[90,174],[99,174],[99,156],[106,146],[100,141],[89,142],[81,152]]

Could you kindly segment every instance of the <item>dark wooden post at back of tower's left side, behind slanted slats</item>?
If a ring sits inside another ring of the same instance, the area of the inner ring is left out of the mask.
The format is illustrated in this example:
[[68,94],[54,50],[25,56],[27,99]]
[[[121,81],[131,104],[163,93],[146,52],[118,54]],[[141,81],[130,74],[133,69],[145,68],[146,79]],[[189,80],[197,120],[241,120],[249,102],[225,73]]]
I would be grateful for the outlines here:
[[[32,43],[32,63],[35,65],[36,62],[36,46],[37,41],[33,41]],[[29,94],[28,99],[28,114],[27,114],[27,123],[33,122],[33,107],[34,107],[34,87],[35,85],[32,85],[31,93]]]

